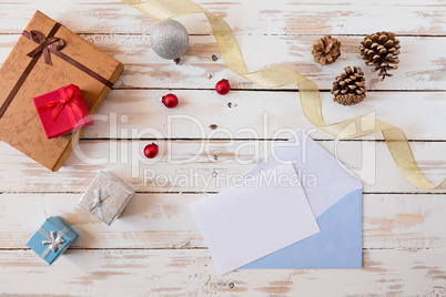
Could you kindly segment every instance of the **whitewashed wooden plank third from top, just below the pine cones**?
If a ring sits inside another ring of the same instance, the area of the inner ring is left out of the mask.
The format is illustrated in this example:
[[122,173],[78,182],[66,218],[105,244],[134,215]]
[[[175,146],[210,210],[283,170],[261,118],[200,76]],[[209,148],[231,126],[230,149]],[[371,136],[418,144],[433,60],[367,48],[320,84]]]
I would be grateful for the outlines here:
[[[162,139],[277,139],[301,127],[315,139],[333,140],[306,120],[297,92],[237,91],[221,96],[215,91],[175,90],[181,103],[168,110],[159,99],[170,92],[113,90],[83,139],[132,139],[132,131],[146,127]],[[321,94],[327,123],[369,114],[402,127],[409,140],[446,140],[444,114],[438,112],[446,109],[446,92],[371,92],[348,107],[333,102],[330,93]],[[383,139],[381,133],[373,136]]]

